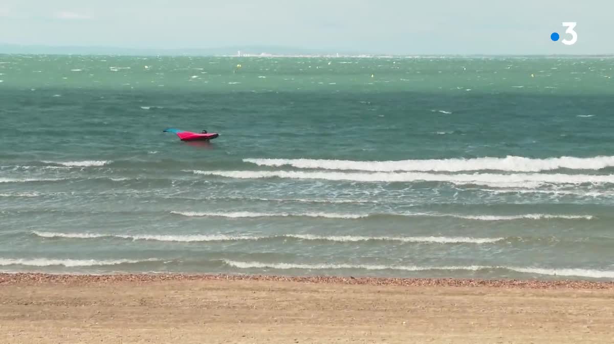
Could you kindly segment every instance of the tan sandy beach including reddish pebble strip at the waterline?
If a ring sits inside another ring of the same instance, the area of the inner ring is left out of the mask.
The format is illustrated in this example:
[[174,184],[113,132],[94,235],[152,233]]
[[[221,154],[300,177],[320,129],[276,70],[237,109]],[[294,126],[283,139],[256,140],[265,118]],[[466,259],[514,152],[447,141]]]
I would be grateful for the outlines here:
[[0,343],[612,343],[614,283],[0,274]]

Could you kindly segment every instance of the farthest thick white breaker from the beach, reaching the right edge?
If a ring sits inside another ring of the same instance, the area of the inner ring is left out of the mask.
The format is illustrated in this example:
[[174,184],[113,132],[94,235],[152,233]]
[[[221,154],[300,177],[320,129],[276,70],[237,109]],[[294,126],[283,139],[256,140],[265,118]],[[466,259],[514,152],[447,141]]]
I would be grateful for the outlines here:
[[473,159],[427,159],[398,161],[353,161],[320,159],[243,159],[259,166],[293,166],[324,170],[356,170],[371,172],[394,171],[481,171],[499,170],[515,172],[538,172],[569,168],[572,170],[600,170],[614,166],[614,156],[589,158],[551,157],[532,159],[508,155],[505,158],[482,157]]

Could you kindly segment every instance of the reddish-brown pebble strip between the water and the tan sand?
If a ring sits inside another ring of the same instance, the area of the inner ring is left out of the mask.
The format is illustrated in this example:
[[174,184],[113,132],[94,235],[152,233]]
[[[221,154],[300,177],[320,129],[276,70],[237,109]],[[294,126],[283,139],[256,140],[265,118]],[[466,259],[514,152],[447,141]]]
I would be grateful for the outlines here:
[[163,281],[233,280],[301,283],[339,283],[347,285],[391,285],[391,286],[488,286],[495,288],[533,289],[614,289],[614,282],[591,282],[582,280],[479,280],[479,279],[394,279],[371,277],[289,277],[274,275],[192,275],[192,274],[40,274],[0,273],[0,285],[39,283],[150,283]]

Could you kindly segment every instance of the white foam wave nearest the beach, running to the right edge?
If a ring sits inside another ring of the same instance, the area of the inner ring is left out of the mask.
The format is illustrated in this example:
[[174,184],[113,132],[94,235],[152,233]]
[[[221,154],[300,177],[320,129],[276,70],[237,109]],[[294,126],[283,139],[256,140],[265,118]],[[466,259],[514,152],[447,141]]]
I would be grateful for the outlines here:
[[521,272],[526,274],[557,275],[591,278],[614,278],[614,271],[604,271],[595,269],[547,269],[541,267],[511,267],[511,266],[404,266],[404,265],[372,265],[372,264],[295,264],[295,263],[262,263],[258,261],[233,261],[223,260],[225,264],[239,269],[309,269],[309,270],[333,270],[333,269],[355,269],[355,270],[400,270],[400,271],[480,271],[505,269],[508,271]]

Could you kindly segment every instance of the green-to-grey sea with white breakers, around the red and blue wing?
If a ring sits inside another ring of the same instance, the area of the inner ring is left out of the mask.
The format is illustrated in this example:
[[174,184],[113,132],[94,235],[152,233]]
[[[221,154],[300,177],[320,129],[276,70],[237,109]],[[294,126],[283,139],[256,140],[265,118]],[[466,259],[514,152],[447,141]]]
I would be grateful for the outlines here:
[[614,280],[613,78],[591,56],[0,55],[0,271]]

